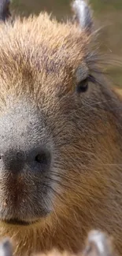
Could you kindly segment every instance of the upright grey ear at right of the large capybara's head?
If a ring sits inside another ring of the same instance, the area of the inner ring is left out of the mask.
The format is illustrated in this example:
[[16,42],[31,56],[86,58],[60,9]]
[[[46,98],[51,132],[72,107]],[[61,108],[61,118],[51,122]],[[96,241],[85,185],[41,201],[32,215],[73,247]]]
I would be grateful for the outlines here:
[[87,2],[85,0],[74,0],[72,2],[72,10],[80,28],[91,33],[93,29],[92,11]]

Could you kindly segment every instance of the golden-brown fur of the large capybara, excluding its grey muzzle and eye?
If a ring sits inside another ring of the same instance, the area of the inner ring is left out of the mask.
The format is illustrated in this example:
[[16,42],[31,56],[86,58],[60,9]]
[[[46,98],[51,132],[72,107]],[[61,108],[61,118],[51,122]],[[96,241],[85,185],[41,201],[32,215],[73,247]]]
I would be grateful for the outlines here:
[[[76,24],[46,13],[0,29],[1,115],[10,98],[30,98],[45,113],[57,159],[53,212],[30,226],[0,223],[17,256],[53,247],[75,253],[91,228],[116,235],[122,253],[122,105],[98,72],[91,41]],[[76,92],[78,67],[96,80],[83,94]]]

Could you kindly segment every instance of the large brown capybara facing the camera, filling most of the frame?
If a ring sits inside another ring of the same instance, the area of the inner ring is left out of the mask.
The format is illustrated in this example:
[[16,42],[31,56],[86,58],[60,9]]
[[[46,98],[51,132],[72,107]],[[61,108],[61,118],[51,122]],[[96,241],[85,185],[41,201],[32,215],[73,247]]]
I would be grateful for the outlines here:
[[91,9],[72,9],[58,23],[1,8],[0,237],[17,256],[77,253],[92,228],[122,253],[122,102],[102,77]]

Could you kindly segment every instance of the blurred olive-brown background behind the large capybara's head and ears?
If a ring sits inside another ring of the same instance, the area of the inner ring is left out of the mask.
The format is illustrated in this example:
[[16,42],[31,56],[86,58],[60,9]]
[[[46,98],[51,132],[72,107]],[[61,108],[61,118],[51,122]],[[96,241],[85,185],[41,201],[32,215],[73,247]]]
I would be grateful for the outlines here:
[[[70,17],[71,0],[13,0],[14,13],[28,16],[46,10],[58,20]],[[117,87],[122,87],[122,0],[90,0],[96,27],[101,27],[99,42],[103,54],[116,55],[121,66],[113,65],[110,75]]]

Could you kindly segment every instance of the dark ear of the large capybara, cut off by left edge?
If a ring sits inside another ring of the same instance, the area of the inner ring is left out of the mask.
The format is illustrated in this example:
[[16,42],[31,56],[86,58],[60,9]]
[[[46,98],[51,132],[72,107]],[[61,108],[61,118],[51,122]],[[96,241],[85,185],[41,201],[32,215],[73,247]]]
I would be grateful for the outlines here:
[[11,16],[9,11],[10,0],[0,0],[0,20],[6,22]]

